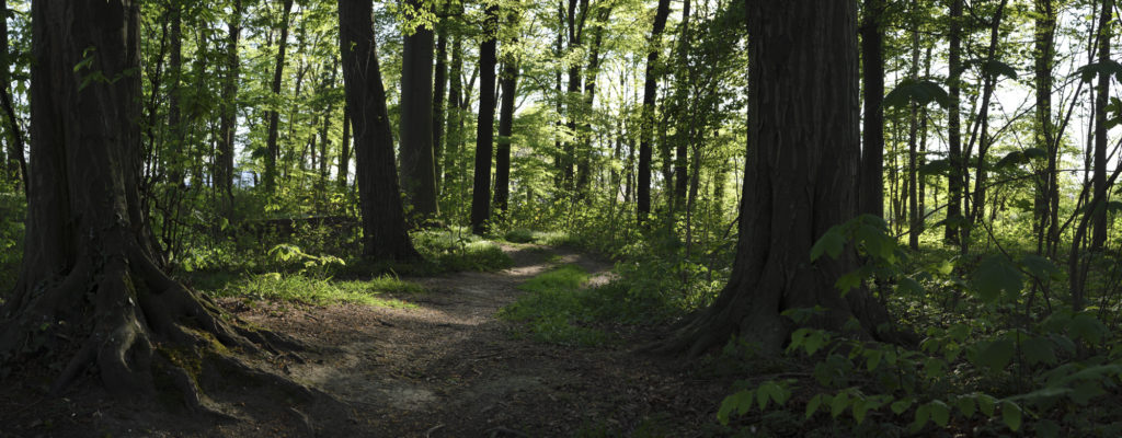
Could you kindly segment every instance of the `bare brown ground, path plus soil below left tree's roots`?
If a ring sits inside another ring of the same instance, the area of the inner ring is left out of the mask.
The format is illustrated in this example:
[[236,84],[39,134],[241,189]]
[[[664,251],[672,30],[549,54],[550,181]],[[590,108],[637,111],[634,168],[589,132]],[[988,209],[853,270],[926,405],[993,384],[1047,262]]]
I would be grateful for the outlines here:
[[552,437],[715,434],[727,379],[703,376],[666,357],[635,353],[654,329],[597,327],[613,342],[596,347],[544,344],[519,335],[496,313],[526,293],[517,286],[560,264],[589,282],[610,264],[535,245],[504,246],[513,268],[411,278],[423,293],[397,298],[412,308],[291,302],[220,302],[241,319],[309,346],[303,361],[273,372],[318,394],[288,402],[275,391],[224,388],[212,398],[237,420],[199,419],[111,402],[92,379],[63,398],[34,380],[0,388],[0,437],[38,436],[364,436]]

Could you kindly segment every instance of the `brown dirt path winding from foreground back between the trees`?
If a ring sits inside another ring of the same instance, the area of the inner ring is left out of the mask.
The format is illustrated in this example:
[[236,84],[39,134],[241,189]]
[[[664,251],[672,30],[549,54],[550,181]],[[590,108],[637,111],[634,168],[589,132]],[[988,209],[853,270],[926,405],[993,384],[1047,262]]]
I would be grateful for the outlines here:
[[[647,430],[695,436],[711,422],[727,386],[696,381],[668,366],[665,358],[631,351],[651,339],[618,333],[617,342],[603,347],[565,347],[516,336],[517,325],[495,314],[526,293],[518,285],[567,263],[588,271],[590,282],[605,282],[611,265],[561,249],[518,245],[504,251],[515,263],[499,272],[411,278],[429,291],[397,298],[416,308],[339,305],[241,314],[312,346],[306,362],[289,365],[287,373],[350,410],[288,431],[311,435],[311,427],[316,436],[545,437]],[[293,423],[251,422],[274,428]],[[226,431],[263,430],[241,426]]]

